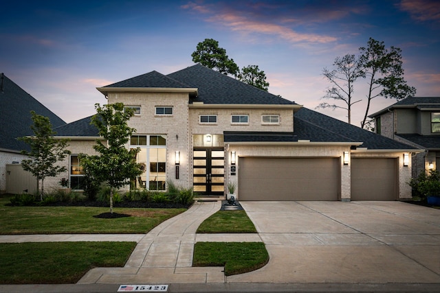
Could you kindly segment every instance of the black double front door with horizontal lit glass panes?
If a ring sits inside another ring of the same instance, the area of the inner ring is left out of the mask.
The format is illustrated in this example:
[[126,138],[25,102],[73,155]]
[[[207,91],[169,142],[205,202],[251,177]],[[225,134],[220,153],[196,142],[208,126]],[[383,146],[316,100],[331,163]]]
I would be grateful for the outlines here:
[[193,189],[206,196],[223,196],[225,151],[223,148],[195,148]]

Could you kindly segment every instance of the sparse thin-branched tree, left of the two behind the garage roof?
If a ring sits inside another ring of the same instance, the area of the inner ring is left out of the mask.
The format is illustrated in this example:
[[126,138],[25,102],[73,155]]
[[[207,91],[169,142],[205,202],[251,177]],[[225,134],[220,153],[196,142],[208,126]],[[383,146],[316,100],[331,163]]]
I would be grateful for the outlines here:
[[322,75],[333,84],[333,86],[327,89],[322,99],[335,99],[336,101],[343,102],[344,106],[326,102],[319,104],[316,108],[333,108],[333,110],[341,108],[347,110],[347,117],[349,124],[351,124],[351,106],[361,101],[361,99],[355,102],[352,101],[354,83],[358,78],[364,77],[364,71],[362,71],[359,60],[351,54],[347,54],[342,58],[336,57],[333,67],[335,67],[333,70],[329,70],[327,67],[322,69]]

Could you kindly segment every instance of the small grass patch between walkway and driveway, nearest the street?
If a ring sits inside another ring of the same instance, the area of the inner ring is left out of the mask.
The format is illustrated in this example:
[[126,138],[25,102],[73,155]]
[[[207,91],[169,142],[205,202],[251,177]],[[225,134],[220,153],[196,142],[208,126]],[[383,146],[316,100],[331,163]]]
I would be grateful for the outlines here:
[[224,266],[225,275],[231,276],[258,270],[267,261],[262,242],[197,242],[192,266]]

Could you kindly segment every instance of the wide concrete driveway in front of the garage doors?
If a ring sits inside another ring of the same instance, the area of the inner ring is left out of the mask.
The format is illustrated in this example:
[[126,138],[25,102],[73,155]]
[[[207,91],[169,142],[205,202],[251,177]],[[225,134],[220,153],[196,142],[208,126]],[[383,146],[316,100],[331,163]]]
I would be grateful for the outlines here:
[[270,255],[228,283],[440,283],[440,210],[404,202],[240,202]]

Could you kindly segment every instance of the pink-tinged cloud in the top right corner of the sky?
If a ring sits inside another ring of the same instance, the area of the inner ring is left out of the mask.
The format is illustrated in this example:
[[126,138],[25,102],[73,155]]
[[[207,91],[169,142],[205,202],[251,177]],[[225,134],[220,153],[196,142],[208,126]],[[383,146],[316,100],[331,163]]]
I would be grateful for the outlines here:
[[440,4],[437,0],[401,0],[398,6],[417,21],[440,21]]

